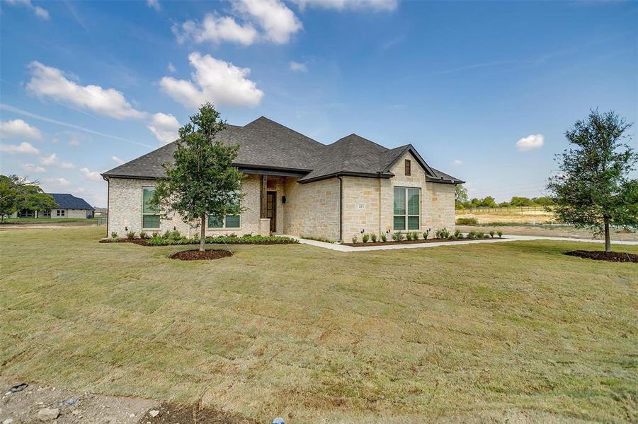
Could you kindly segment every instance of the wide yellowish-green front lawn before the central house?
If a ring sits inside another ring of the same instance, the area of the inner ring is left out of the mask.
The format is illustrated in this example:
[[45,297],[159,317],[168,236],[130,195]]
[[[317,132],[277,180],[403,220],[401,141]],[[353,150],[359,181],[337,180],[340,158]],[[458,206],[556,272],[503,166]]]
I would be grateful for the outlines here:
[[0,232],[0,376],[263,422],[638,420],[638,266],[562,254],[600,246],[182,262],[103,235]]

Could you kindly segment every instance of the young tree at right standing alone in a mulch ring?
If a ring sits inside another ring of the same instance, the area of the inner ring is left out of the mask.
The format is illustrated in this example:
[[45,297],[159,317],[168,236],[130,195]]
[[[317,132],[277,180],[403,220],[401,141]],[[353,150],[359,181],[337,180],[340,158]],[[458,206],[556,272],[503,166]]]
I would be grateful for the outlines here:
[[638,154],[627,144],[627,124],[614,112],[591,110],[565,132],[573,148],[557,155],[559,174],[547,189],[559,220],[592,232],[605,232],[605,252],[611,252],[610,225],[638,226],[638,180],[630,179]]

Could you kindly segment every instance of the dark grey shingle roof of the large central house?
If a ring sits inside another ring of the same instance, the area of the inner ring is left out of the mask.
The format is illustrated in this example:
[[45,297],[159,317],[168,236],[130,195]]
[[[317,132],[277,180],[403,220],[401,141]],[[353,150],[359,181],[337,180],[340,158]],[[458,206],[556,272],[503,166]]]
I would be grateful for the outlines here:
[[[281,175],[301,177],[301,183],[337,175],[389,178],[392,177],[389,172],[392,165],[408,151],[433,182],[462,183],[460,179],[431,168],[411,144],[388,149],[351,134],[326,146],[266,117],[259,117],[245,126],[229,125],[216,137],[224,143],[239,143],[234,165],[242,171],[276,171]],[[173,141],[102,175],[105,178],[164,177],[162,163],[173,160],[176,148],[177,143]]]

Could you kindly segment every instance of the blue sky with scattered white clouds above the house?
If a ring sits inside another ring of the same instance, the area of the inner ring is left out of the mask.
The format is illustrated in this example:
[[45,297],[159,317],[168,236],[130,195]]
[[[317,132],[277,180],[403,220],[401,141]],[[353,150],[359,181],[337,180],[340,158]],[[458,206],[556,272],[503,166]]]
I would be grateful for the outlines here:
[[0,172],[94,206],[99,172],[171,140],[202,100],[229,123],[264,115],[322,143],[412,143],[470,196],[499,200],[542,194],[590,108],[638,120],[636,2],[0,7]]

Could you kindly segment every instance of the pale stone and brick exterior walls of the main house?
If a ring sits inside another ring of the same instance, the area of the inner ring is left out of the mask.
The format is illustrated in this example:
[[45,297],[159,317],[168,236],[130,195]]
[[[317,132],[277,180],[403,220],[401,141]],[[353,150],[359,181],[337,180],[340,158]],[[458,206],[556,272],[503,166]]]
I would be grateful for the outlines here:
[[[404,160],[411,160],[411,175],[405,175]],[[343,239],[353,235],[360,239],[360,231],[392,232],[394,219],[394,187],[421,189],[421,219],[418,232],[428,228],[454,231],[454,185],[426,182],[426,173],[411,153],[397,161],[392,168],[394,177],[388,179],[342,177],[343,181]],[[277,193],[277,234],[306,235],[339,238],[338,178],[299,184],[297,178],[268,176],[264,189]],[[108,232],[123,237],[127,231],[142,230],[142,187],[154,186],[153,180],[110,178],[108,189]],[[207,235],[235,233],[268,234],[269,220],[261,218],[261,175],[248,175],[244,179],[240,228],[207,228]],[[283,203],[285,196],[286,202]],[[192,236],[199,232],[183,223],[180,217],[160,221],[159,232],[177,230]],[[144,229],[152,232],[154,229]]]

